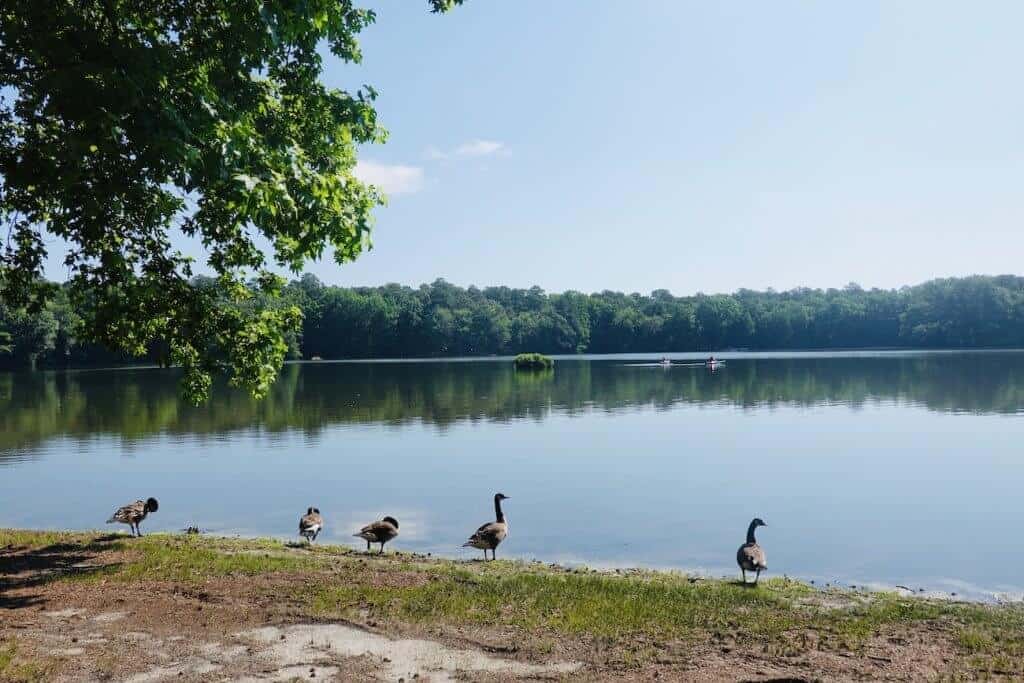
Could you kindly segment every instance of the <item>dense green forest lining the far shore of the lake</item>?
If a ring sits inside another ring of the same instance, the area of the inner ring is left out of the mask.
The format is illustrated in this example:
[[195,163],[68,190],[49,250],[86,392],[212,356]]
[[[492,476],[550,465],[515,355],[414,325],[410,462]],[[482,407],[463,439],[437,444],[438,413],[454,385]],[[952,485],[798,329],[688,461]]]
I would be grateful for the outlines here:
[[[196,287],[216,287],[197,278]],[[258,296],[258,295],[254,295]],[[130,361],[80,339],[60,288],[35,313],[0,304],[0,367]],[[739,290],[677,297],[534,287],[332,287],[310,274],[284,304],[303,313],[293,358],[618,353],[727,348],[977,348],[1024,346],[1024,278],[934,280],[899,290]],[[258,304],[255,301],[255,304]],[[153,348],[147,360],[161,357]]]

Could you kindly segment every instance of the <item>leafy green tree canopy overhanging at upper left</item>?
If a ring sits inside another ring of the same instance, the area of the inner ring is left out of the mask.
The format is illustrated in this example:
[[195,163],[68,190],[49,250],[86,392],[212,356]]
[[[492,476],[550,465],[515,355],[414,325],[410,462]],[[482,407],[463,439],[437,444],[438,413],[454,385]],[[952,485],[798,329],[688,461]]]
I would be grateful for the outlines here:
[[[265,393],[301,323],[254,305],[280,295],[271,267],[370,245],[382,198],[353,169],[385,136],[376,93],[326,87],[318,50],[358,61],[374,18],[353,0],[5,3],[0,299],[45,307],[59,238],[89,339],[134,355],[162,342],[197,399],[217,372]],[[176,231],[202,242],[217,287],[191,286]]]

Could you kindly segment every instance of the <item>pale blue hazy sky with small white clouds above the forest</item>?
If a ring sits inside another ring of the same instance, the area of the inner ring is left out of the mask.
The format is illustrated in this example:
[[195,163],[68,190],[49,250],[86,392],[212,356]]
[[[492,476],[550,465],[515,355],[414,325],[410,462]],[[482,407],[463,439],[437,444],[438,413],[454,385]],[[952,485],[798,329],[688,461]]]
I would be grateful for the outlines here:
[[375,249],[329,283],[677,294],[1022,272],[1024,2],[371,3]]

